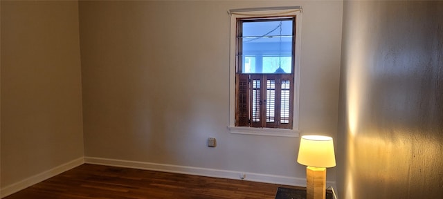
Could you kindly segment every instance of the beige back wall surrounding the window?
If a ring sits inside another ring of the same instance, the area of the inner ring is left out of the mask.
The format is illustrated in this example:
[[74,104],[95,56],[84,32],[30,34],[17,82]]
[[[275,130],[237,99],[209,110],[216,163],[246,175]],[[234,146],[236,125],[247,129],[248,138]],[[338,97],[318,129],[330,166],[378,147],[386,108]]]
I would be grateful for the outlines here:
[[[85,155],[305,182],[305,167],[296,163],[299,138],[227,129],[226,11],[303,7],[300,131],[335,137],[342,3],[80,1]],[[206,146],[208,137],[217,138],[216,148]]]

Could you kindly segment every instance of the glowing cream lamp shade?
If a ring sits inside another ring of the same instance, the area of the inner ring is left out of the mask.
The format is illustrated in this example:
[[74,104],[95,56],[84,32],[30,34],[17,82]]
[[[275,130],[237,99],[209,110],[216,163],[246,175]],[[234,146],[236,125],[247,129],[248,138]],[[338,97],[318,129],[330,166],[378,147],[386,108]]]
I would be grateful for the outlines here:
[[323,135],[303,135],[297,162],[309,167],[335,167],[334,142]]

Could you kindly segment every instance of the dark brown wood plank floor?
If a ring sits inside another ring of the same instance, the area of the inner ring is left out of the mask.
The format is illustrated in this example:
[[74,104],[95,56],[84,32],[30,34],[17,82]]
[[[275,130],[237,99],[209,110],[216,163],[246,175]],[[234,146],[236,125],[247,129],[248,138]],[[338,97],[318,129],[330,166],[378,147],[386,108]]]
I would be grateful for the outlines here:
[[15,198],[275,198],[279,184],[83,164],[14,193]]

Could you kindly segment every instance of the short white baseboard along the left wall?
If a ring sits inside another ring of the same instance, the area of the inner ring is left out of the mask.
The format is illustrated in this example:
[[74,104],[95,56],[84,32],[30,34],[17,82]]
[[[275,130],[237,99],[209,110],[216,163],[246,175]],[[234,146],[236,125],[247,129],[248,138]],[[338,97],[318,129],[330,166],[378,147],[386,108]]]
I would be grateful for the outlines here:
[[82,164],[84,164],[83,157],[72,160],[70,162],[66,162],[64,164],[61,164],[58,167],[55,167],[53,169],[49,169],[49,170],[39,173],[35,176],[31,176],[29,178],[26,178],[25,180],[21,180],[20,182],[10,184],[6,187],[1,188],[0,198],[4,198],[6,196],[11,195],[12,193],[20,191],[22,189],[26,189],[27,187],[37,184],[38,182],[42,182],[43,180],[46,180],[46,179],[51,178],[53,176],[57,176],[58,174],[63,173],[64,171],[68,171],[68,170],[78,167]]

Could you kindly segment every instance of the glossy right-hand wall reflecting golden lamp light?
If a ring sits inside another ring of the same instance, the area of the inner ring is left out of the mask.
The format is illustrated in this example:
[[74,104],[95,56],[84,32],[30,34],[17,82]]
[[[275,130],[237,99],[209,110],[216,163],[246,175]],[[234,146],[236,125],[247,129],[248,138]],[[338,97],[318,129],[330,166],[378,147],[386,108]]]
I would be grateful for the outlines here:
[[442,198],[443,1],[345,1],[340,198]]

